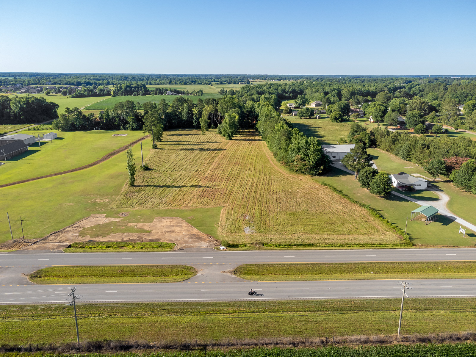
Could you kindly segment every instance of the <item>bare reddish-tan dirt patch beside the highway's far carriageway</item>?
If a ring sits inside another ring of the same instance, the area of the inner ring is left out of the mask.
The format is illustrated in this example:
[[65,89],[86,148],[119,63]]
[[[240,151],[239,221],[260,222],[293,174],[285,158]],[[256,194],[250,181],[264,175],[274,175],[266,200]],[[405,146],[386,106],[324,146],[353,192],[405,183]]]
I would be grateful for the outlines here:
[[[123,213],[129,215],[129,213]],[[120,214],[119,214],[120,215]],[[88,218],[65,227],[57,232],[41,238],[34,245],[25,249],[64,249],[74,242],[169,242],[175,243],[175,249],[179,248],[208,248],[219,245],[218,241],[200,232],[182,218],[178,217],[156,217],[151,223],[125,223],[128,226],[135,226],[146,229],[150,232],[140,233],[114,233],[104,237],[90,238],[88,235],[81,236],[83,228],[92,227],[109,222],[119,222],[122,218],[106,218],[105,214],[93,214]]]

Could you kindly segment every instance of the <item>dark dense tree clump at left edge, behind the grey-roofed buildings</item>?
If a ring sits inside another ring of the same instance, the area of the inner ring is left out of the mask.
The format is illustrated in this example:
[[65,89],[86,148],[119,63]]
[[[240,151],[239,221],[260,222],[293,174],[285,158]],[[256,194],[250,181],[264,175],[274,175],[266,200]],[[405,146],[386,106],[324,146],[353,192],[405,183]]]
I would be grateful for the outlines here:
[[59,105],[33,96],[0,96],[0,124],[41,123],[58,117]]

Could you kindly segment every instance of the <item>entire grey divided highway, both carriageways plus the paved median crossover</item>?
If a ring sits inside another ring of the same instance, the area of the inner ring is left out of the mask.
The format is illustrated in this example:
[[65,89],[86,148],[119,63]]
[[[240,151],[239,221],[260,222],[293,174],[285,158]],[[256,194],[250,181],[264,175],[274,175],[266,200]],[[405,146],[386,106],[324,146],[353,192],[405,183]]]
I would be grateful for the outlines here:
[[[246,263],[476,260],[476,249],[354,249],[162,253],[6,253],[0,255],[0,304],[64,302],[69,285],[35,285],[22,274],[63,265],[185,264],[198,275],[161,284],[79,284],[83,302],[399,297],[396,280],[251,282],[227,270]],[[476,279],[415,279],[410,297],[473,297]],[[248,296],[250,288],[263,294]]]

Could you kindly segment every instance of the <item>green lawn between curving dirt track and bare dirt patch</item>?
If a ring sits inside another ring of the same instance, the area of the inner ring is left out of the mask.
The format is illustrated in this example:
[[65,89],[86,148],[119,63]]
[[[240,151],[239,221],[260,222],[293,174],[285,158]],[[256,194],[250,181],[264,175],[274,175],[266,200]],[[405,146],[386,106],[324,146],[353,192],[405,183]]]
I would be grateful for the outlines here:
[[[125,138],[128,138],[129,135]],[[124,137],[115,137],[119,139]],[[53,140],[54,142],[55,140]],[[143,142],[147,161],[151,140]],[[140,145],[132,148],[136,164]],[[9,161],[10,162],[10,161]],[[120,153],[89,169],[43,178],[20,185],[0,188],[0,211],[9,212],[14,238],[21,237],[20,216],[24,219],[26,238],[40,238],[69,226],[94,213],[118,217],[129,212],[122,223],[150,223],[155,217],[179,217],[206,234],[217,237],[222,207],[173,209],[111,208],[127,180],[126,154]],[[7,165],[2,165],[0,170]],[[5,218],[0,220],[0,243],[9,240],[10,229]]]

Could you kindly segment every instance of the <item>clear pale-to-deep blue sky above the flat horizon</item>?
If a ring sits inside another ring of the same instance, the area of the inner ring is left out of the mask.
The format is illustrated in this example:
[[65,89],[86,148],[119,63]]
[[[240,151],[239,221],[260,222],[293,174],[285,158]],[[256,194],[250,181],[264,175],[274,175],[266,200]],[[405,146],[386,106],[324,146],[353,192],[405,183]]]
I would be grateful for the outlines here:
[[0,71],[476,74],[476,1],[0,0]]

